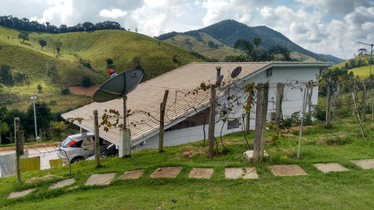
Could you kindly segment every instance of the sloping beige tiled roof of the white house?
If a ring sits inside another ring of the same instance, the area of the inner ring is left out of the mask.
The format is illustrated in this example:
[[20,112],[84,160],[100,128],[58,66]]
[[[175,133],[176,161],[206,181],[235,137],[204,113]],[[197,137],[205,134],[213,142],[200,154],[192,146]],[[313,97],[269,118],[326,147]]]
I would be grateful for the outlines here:
[[[221,67],[221,74],[224,75],[223,81],[228,84],[232,81],[230,73],[234,68],[242,67],[238,79],[247,77],[248,75],[254,74],[255,72],[262,70],[269,65],[276,64],[304,64],[304,65],[326,65],[327,63],[322,62],[242,62],[242,63],[190,63],[180,68],[167,72],[151,80],[145,81],[138,85],[138,87],[131,93],[128,94],[127,109],[131,109],[131,112],[136,113],[128,117],[128,125],[131,130],[131,138],[133,141],[141,139],[151,133],[157,131],[159,128],[158,120],[160,113],[160,103],[162,102],[165,90],[169,90],[168,101],[166,103],[165,121],[176,116],[186,114],[186,111],[190,107],[196,107],[201,104],[209,103],[209,90],[206,92],[199,91],[195,95],[187,95],[186,93],[192,92],[194,89],[200,86],[200,83],[209,82],[214,83],[216,81],[216,68]],[[120,112],[120,116],[123,116],[123,100],[115,99],[113,101],[97,103],[83,106],[73,111],[67,112],[62,115],[66,118],[81,117],[84,118],[81,125],[89,130],[94,129],[93,125],[93,111],[98,110],[99,123],[101,123],[101,116],[104,114],[104,110],[115,109]],[[144,111],[144,112],[142,112]],[[193,111],[193,110],[190,110]],[[150,115],[147,113],[149,112]],[[155,117],[155,119],[152,118]],[[120,119],[122,123],[122,119]],[[136,124],[136,127],[134,124]],[[167,123],[165,123],[167,124]],[[111,139],[115,142],[119,140],[119,129],[112,128],[108,132],[102,130],[100,127],[100,134],[105,136],[107,139]]]

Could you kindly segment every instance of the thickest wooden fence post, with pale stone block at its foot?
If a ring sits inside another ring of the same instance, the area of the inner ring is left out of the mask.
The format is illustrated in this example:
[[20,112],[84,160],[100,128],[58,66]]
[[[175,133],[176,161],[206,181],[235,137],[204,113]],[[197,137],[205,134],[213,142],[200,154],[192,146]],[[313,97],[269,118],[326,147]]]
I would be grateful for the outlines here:
[[260,163],[264,157],[265,128],[269,83],[257,84],[256,123],[253,143],[253,161]]

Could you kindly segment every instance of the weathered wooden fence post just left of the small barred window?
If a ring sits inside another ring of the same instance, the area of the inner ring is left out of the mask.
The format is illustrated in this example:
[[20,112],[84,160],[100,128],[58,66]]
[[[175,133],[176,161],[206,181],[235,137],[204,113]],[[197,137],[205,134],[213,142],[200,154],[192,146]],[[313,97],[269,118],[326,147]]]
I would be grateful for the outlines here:
[[211,84],[211,103],[209,114],[209,130],[208,130],[208,158],[213,157],[214,146],[214,128],[215,128],[215,86]]

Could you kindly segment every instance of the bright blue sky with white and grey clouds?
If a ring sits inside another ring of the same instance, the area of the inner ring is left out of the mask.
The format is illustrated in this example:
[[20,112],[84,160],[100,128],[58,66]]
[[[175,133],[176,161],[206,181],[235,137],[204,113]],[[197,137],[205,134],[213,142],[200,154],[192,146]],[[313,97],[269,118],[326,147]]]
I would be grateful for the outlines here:
[[357,41],[374,43],[374,0],[0,0],[0,15],[56,26],[116,21],[150,36],[234,19],[343,59],[367,47]]

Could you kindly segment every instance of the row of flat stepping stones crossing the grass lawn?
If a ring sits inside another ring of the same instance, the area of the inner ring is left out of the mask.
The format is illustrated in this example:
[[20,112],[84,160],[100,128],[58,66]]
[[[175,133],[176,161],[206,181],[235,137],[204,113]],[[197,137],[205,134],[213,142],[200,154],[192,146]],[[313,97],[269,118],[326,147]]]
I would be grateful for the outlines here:
[[[367,159],[367,160],[352,160],[351,162],[355,163],[359,167],[363,169],[374,169],[374,159]],[[318,170],[322,172],[341,172],[347,171],[344,166],[341,166],[338,163],[315,163],[313,164]],[[301,169],[299,165],[272,165],[269,166],[271,172],[275,176],[295,176],[295,175],[307,175],[307,173]],[[157,168],[152,174],[151,177],[158,178],[158,177],[177,177],[180,173],[182,167],[160,167]],[[144,172],[144,169],[128,171],[123,173],[119,177],[119,179],[137,179],[139,178]],[[212,168],[193,168],[190,172],[189,177],[191,178],[203,178],[209,179],[211,178],[214,169]],[[103,173],[103,174],[92,174],[86,181],[86,186],[90,185],[109,185],[111,180],[113,180],[116,173]],[[258,175],[256,172],[255,167],[245,167],[245,172],[243,168],[226,168],[225,169],[225,177],[226,179],[258,179]],[[62,188],[64,186],[72,185],[75,182],[75,178],[61,180],[56,182],[55,184],[51,185],[49,189],[56,189]],[[78,186],[72,186],[69,189],[77,188]],[[10,193],[8,198],[19,198],[25,195],[30,194],[36,188],[27,189],[20,192],[12,192]]]

